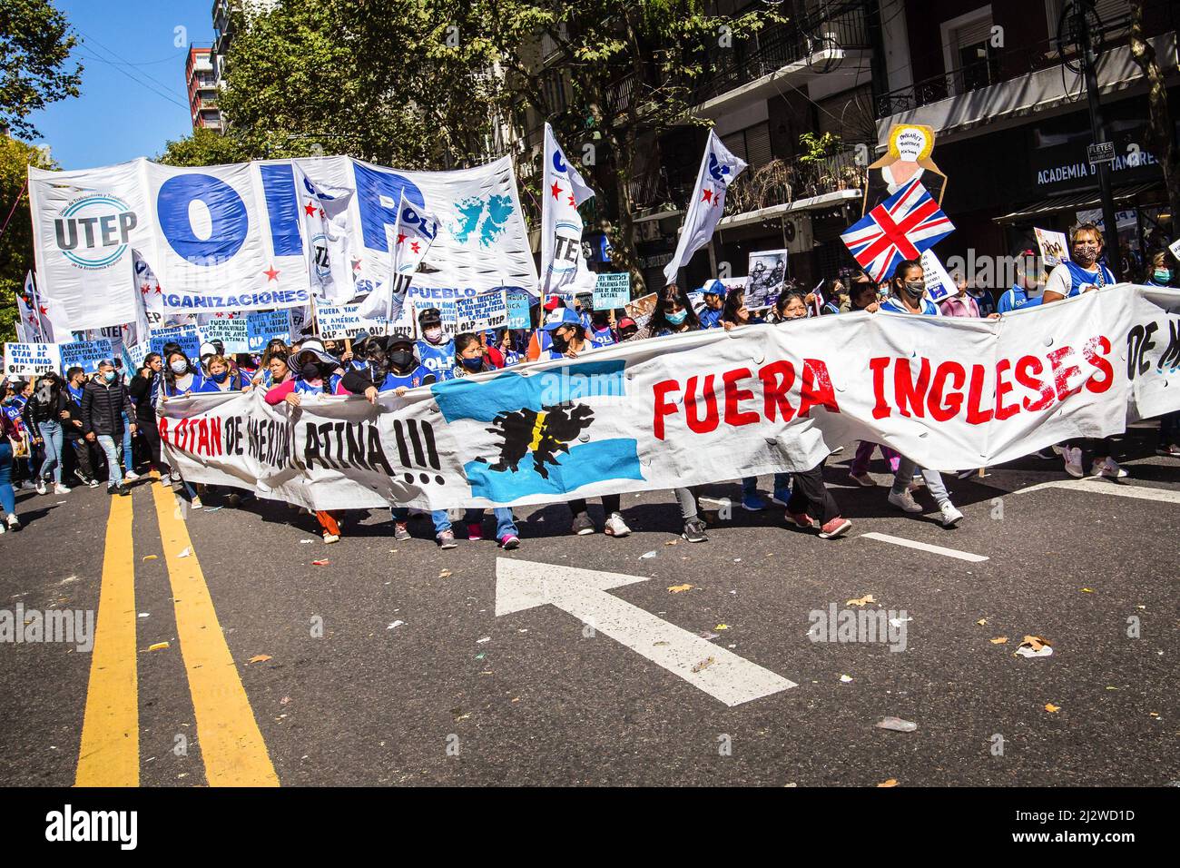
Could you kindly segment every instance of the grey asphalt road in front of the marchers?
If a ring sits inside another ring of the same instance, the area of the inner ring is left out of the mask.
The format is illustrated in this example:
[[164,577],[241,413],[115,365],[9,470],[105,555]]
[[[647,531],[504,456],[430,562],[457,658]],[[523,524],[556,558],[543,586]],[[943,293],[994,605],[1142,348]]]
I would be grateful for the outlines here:
[[[950,478],[966,515],[955,530],[924,492],[931,513],[913,518],[885,488],[852,487],[846,449],[827,479],[854,527],[831,542],[786,529],[780,508],[734,508],[689,544],[670,492],[627,495],[635,533],[621,540],[571,536],[562,504],[520,509],[512,553],[461,524],[440,552],[425,517],[394,542],[375,510],[324,546],[286,504],[210,496],[191,511],[148,482],[129,507],[101,489],[20,492],[27,527],[0,536],[0,609],[97,609],[98,626],[91,652],[0,644],[0,783],[1167,784],[1180,778],[1180,463],[1152,443],[1123,440],[1122,484],[1073,483],[1034,458]],[[739,488],[709,494],[736,502]],[[497,616],[505,561],[525,564],[517,576],[644,581],[602,592],[631,606],[608,601],[622,614],[601,629],[553,605]],[[904,650],[809,639],[812,611],[865,595]],[[681,629],[648,634],[650,615]],[[796,686],[729,706],[607,635],[627,629],[664,651],[715,634]],[[1015,655],[1025,635],[1051,657]],[[918,729],[874,726],[887,716]]]

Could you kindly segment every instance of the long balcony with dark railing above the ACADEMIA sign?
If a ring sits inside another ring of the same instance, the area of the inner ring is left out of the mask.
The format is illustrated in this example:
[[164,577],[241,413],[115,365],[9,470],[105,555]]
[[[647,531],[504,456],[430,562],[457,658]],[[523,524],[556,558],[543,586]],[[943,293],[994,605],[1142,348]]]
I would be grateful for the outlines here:
[[[1156,45],[1161,60],[1167,63],[1167,58],[1174,58],[1180,4],[1148,0],[1143,20],[1146,33],[1149,38],[1154,37],[1153,43],[1163,40],[1160,44],[1163,51]],[[1095,40],[1100,87],[1114,86],[1135,77],[1138,66],[1129,53],[1129,12],[1100,21]],[[1005,113],[1024,112],[1034,106],[1037,110],[1049,107],[1050,103],[1069,97],[1068,92],[1058,93],[1062,81],[1077,79],[1071,72],[1063,79],[1063,64],[1076,67],[1076,48],[1058,43],[1056,38],[1020,50],[989,53],[970,64],[879,94],[874,105],[878,128],[887,128],[889,123],[899,120],[920,120],[945,131],[994,120]],[[957,111],[944,104],[952,97],[959,98],[956,100],[961,103]],[[929,111],[919,111],[923,109]]]

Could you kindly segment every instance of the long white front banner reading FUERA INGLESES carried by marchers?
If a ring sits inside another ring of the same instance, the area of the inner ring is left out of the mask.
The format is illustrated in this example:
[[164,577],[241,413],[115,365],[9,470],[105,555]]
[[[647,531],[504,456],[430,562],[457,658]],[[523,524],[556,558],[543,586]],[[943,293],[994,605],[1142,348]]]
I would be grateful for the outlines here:
[[[851,439],[961,470],[1121,432],[1130,397],[1121,354],[1143,321],[1139,300],[1150,298],[1119,285],[1001,320],[878,312],[706,329],[376,406],[309,396],[297,415],[257,393],[194,396],[169,402],[160,437],[190,482],[250,481],[263,497],[310,509],[706,484],[807,470]],[[1168,392],[1153,412],[1180,409],[1180,390]]]

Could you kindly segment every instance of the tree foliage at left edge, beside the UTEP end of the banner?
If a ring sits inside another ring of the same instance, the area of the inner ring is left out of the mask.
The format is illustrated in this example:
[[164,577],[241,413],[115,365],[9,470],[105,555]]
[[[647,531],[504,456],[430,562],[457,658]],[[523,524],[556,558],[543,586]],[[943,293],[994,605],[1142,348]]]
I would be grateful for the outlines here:
[[25,286],[25,273],[33,268],[33,221],[25,189],[30,165],[57,168],[42,149],[0,136],[0,226],[17,204],[0,237],[0,340],[15,339],[17,295]]

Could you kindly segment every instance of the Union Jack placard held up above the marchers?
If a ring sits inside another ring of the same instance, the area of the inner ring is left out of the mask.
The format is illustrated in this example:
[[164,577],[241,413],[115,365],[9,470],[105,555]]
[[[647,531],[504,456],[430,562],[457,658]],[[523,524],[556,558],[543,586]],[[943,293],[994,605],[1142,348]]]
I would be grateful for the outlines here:
[[919,259],[955,231],[955,224],[914,178],[840,235],[860,267],[876,281],[887,280],[898,263]]

